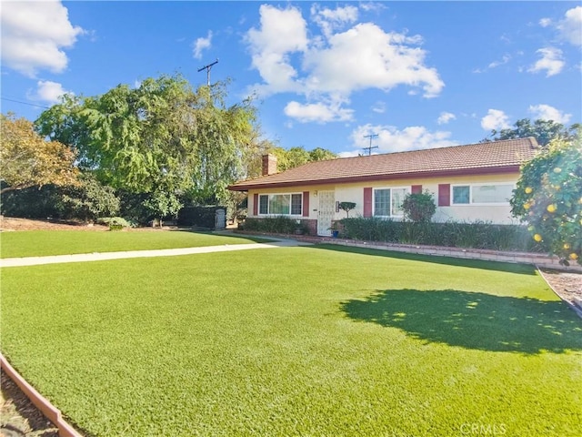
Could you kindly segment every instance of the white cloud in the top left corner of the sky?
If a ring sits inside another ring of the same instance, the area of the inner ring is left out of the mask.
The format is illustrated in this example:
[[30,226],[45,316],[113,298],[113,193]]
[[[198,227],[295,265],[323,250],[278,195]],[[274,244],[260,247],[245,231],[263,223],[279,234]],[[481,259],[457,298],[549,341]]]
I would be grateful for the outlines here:
[[38,70],[61,73],[68,58],[63,48],[84,30],[71,25],[61,2],[2,2],[2,62],[34,77]]

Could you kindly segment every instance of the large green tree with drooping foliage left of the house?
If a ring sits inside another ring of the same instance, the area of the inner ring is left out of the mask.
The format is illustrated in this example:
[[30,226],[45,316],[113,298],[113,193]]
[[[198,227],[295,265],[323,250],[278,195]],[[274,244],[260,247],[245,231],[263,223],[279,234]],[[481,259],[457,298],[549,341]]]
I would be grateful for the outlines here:
[[79,150],[79,165],[145,207],[174,214],[180,198],[225,201],[256,137],[250,100],[226,106],[226,84],[194,90],[183,76],[147,78],[96,97],[65,97],[35,122],[39,133]]

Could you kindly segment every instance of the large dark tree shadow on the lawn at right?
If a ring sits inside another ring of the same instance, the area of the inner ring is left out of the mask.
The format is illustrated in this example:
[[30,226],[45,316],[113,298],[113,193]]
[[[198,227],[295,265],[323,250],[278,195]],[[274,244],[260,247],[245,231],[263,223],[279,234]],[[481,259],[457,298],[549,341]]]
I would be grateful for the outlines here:
[[381,290],[348,300],[354,320],[398,328],[426,342],[480,351],[539,353],[582,350],[582,322],[561,301],[458,290]]

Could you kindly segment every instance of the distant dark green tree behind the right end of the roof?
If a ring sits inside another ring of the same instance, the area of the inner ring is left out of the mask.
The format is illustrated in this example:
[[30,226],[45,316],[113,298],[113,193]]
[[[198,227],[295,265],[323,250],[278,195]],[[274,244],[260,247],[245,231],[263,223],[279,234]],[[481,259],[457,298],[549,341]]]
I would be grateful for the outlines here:
[[535,137],[537,144],[540,146],[547,146],[552,139],[562,138],[565,140],[573,140],[577,137],[577,133],[582,131],[582,125],[575,123],[570,127],[565,127],[561,123],[553,120],[537,119],[532,125],[529,118],[522,118],[517,120],[513,128],[501,129],[499,131],[492,130],[490,137],[485,138],[483,142],[500,139],[516,139]]

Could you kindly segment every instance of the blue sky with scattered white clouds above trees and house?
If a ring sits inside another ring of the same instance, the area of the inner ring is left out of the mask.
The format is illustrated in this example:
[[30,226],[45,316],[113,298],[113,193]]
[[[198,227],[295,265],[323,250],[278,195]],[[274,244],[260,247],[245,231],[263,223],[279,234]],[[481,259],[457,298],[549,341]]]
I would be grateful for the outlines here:
[[[478,142],[520,118],[582,120],[579,2],[6,2],[2,113],[219,59],[281,147],[362,153]],[[12,100],[16,100],[14,102]],[[35,107],[36,105],[39,107]]]

